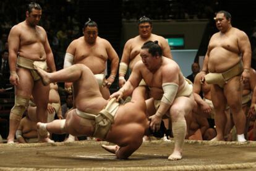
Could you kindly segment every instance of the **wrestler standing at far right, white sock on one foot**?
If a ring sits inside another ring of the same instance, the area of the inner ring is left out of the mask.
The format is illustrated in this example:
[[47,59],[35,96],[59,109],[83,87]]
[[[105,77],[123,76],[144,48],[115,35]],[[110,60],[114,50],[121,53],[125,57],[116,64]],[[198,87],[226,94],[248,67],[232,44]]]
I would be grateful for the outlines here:
[[[226,105],[231,109],[237,129],[237,140],[244,138],[245,115],[242,111],[242,81],[250,78],[251,49],[248,36],[231,25],[231,14],[217,12],[216,27],[220,30],[211,36],[203,62],[202,81],[212,84],[211,99],[215,107],[217,136],[215,141],[224,140]],[[206,73],[209,72],[207,75]]]

